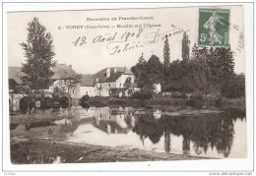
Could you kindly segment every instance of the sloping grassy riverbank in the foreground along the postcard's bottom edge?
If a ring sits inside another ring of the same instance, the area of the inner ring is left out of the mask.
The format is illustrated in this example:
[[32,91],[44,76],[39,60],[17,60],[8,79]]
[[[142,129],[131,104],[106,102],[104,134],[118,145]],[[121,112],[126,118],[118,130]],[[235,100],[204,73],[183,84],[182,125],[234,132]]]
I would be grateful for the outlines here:
[[101,147],[46,140],[11,139],[13,164],[88,163],[213,159],[185,154],[146,151],[138,148]]

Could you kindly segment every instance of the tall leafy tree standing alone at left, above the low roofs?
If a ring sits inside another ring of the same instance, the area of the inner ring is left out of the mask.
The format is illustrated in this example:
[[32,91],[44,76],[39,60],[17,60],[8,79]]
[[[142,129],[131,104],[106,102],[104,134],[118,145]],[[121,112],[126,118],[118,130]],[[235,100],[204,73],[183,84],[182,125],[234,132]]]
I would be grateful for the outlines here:
[[32,89],[48,88],[51,85],[50,77],[54,74],[50,67],[55,66],[52,60],[55,55],[53,39],[37,18],[28,24],[28,31],[27,42],[21,43],[27,57],[27,63],[22,67],[25,73],[22,80]]

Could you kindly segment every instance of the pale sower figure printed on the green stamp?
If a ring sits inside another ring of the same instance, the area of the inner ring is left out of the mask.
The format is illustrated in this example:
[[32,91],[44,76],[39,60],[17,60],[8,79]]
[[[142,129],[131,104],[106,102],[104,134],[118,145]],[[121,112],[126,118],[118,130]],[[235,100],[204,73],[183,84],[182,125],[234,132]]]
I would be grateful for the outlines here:
[[216,11],[210,17],[210,19],[204,24],[205,29],[209,29],[209,41],[210,44],[214,44],[215,42],[219,42],[222,44],[222,39],[224,36],[220,35],[217,32],[217,25],[224,25],[220,20],[224,19],[224,17],[217,15]]

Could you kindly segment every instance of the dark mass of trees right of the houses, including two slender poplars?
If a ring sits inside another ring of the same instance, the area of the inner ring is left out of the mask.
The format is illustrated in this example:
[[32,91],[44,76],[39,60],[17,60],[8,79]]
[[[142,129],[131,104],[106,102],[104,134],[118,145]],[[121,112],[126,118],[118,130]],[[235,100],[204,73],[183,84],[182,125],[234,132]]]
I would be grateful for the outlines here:
[[[224,97],[245,95],[244,75],[234,74],[233,52],[228,47],[192,47],[189,57],[189,39],[182,38],[182,60],[174,60],[167,70],[153,55],[148,62],[140,59],[132,71],[135,83],[143,91],[154,93],[154,84],[161,84],[164,91],[200,92],[204,94],[222,93]],[[169,54],[167,37],[164,41],[163,62]],[[201,99],[195,98],[195,106],[202,106]],[[198,103],[198,105],[197,105]],[[219,102],[218,102],[219,103]],[[221,103],[221,100],[220,100]],[[219,104],[220,104],[219,103]]]

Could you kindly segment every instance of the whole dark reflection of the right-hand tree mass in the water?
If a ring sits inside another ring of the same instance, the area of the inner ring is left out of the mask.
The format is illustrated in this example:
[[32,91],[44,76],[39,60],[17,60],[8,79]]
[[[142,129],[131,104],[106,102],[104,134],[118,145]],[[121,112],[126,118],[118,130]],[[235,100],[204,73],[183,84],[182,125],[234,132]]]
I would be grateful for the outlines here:
[[[231,110],[232,111],[232,110]],[[226,112],[222,114],[203,114],[199,116],[168,116],[161,115],[154,119],[151,115],[140,115],[133,129],[140,135],[142,141],[149,137],[153,144],[160,142],[164,136],[164,150],[171,150],[171,136],[182,136],[183,153],[190,153],[190,142],[197,154],[207,152],[209,147],[215,147],[224,157],[228,157],[233,142],[234,121],[243,119],[245,114]],[[238,116],[237,116],[238,115]]]

